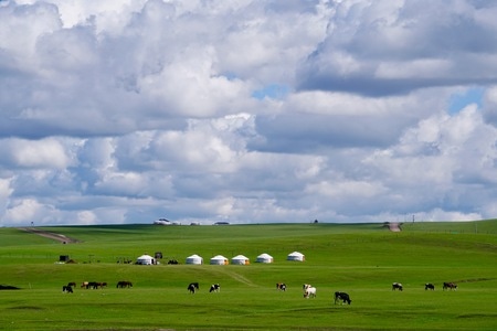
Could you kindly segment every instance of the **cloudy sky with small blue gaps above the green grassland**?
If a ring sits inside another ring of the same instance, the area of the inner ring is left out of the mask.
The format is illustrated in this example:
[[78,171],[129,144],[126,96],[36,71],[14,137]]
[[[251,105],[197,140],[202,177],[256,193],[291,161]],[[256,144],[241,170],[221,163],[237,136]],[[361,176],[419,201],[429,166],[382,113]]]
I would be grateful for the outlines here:
[[494,218],[496,17],[0,0],[0,226]]

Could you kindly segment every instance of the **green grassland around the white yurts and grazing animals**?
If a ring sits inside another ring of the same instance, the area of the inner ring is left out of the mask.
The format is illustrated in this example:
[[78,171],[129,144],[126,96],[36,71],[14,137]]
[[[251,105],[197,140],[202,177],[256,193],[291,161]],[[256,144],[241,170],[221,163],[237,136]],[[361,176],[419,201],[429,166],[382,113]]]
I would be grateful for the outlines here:
[[[0,228],[0,330],[497,330],[497,221],[229,226],[107,225],[44,229],[61,244]],[[306,261],[287,261],[298,250]],[[118,264],[161,252],[162,264]],[[274,264],[254,263],[261,253]],[[204,265],[184,265],[198,254]],[[251,265],[211,266],[243,254]],[[68,255],[76,264],[59,264]],[[178,259],[180,265],[167,265]],[[63,293],[68,281],[107,288]],[[117,289],[130,280],[130,289]],[[187,286],[200,282],[190,295]],[[392,291],[393,281],[404,291]],[[443,291],[456,281],[457,291]],[[211,284],[221,284],[210,293]],[[285,282],[287,291],[277,291]],[[424,284],[434,282],[435,291]],[[303,298],[303,284],[317,297]],[[334,305],[346,291],[352,305]]]

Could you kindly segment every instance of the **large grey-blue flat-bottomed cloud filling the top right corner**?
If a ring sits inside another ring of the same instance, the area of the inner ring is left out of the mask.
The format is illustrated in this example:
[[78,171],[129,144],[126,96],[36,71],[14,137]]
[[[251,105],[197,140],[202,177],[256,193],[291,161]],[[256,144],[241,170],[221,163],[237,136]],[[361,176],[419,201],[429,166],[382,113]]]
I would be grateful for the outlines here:
[[495,84],[496,12],[474,1],[337,2],[299,88],[385,96]]

